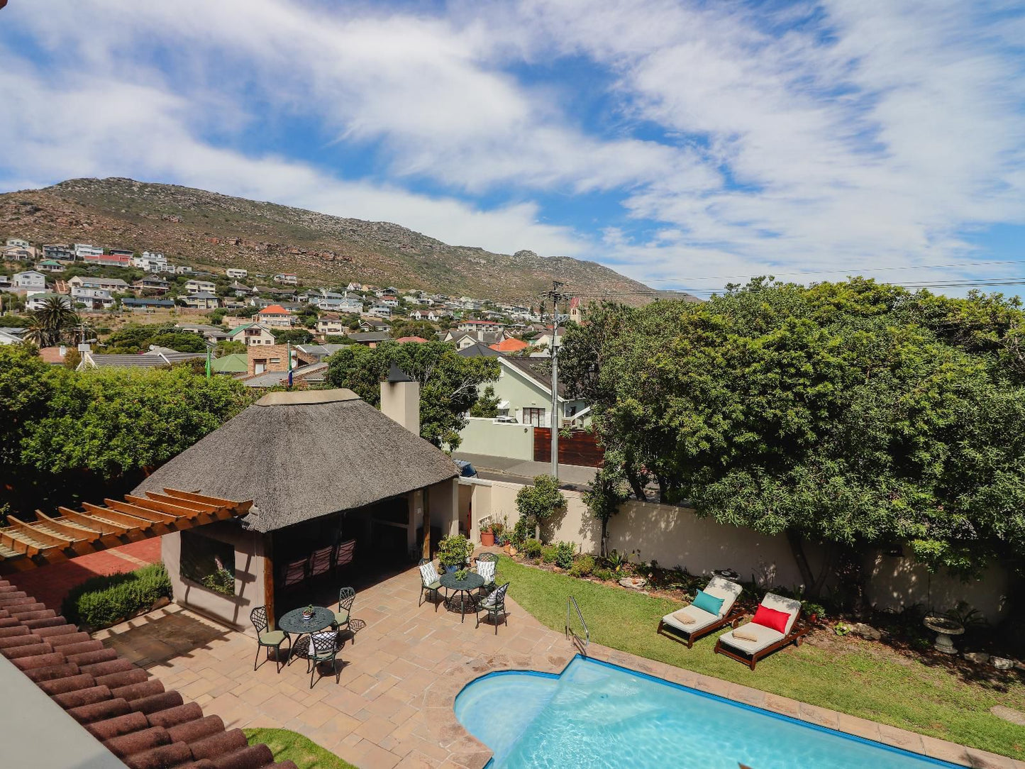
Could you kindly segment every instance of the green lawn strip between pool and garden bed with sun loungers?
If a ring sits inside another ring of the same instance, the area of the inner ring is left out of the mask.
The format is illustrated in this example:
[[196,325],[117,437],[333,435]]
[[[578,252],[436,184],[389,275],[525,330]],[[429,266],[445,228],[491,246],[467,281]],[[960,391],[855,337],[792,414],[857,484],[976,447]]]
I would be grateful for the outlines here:
[[[994,704],[1025,710],[1025,685],[1012,676],[1000,686],[967,682],[948,669],[908,659],[878,645],[844,651],[805,644],[758,662],[749,671],[713,654],[707,636],[688,649],[655,633],[658,620],[680,604],[524,566],[507,557],[498,565],[509,596],[547,626],[562,631],[572,594],[591,641],[649,659],[752,686],[803,702],[929,734],[958,744],[1025,759],[1025,729],[989,713]],[[501,583],[501,582],[499,582]],[[1002,687],[1002,691],[1000,688]]]

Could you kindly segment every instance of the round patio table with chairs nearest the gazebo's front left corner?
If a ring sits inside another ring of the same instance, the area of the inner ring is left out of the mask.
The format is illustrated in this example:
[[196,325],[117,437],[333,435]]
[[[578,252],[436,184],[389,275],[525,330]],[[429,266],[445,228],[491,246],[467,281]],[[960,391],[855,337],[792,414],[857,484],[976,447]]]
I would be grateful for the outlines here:
[[[319,667],[330,662],[337,683],[341,677],[341,670],[337,664],[337,655],[341,649],[341,634],[351,630],[355,601],[356,591],[353,588],[342,588],[338,591],[336,609],[312,605],[292,609],[282,615],[278,620],[278,629],[273,631],[270,629],[266,608],[257,606],[249,614],[249,619],[256,629],[257,638],[253,670],[259,665],[260,650],[265,649],[266,658],[270,659],[271,649],[274,649],[278,673],[295,659],[305,659],[306,673],[310,674],[310,688],[313,689]],[[288,651],[283,654],[281,647],[286,641]]]

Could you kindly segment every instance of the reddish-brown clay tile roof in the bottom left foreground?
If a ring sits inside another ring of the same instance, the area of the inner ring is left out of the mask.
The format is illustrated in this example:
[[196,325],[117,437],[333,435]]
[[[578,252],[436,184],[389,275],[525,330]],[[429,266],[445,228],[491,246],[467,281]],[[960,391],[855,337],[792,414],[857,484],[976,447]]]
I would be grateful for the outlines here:
[[296,769],[7,580],[0,654],[130,769]]

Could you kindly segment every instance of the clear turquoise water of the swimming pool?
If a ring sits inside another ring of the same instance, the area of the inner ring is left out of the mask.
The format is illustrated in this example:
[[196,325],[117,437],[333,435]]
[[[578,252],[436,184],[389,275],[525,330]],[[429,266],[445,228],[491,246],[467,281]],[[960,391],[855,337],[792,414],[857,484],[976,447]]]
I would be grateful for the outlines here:
[[935,769],[953,764],[576,656],[559,676],[493,673],[455,715],[492,769]]

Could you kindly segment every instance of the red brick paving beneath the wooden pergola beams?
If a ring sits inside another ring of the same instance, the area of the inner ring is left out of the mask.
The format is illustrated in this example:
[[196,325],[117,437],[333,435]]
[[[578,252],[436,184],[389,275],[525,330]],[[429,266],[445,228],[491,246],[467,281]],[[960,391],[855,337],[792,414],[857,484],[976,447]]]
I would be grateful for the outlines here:
[[160,537],[141,539],[120,548],[90,553],[71,561],[53,564],[45,569],[31,569],[7,576],[11,584],[35,596],[37,601],[51,609],[60,609],[60,603],[72,588],[94,576],[123,574],[139,566],[160,560]]

